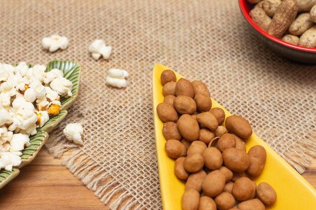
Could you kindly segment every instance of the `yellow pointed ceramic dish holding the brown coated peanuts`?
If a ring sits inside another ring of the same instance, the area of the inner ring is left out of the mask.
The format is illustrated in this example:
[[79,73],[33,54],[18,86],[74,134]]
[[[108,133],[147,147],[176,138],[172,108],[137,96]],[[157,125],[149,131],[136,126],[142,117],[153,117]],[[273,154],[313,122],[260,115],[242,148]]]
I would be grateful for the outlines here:
[[[160,75],[165,69],[164,65],[155,65],[152,72],[153,117],[156,138],[157,161],[159,167],[162,203],[165,210],[180,210],[181,196],[184,192],[184,183],[174,174],[174,160],[169,158],[165,151],[166,139],[163,136],[163,121],[158,117],[156,106],[164,101],[163,85]],[[175,72],[177,80],[182,78]],[[212,95],[212,94],[211,94]],[[231,114],[212,99],[212,107],[220,107],[226,116]],[[236,113],[238,114],[238,113]],[[286,132],[286,131],[285,131]],[[267,206],[275,210],[315,210],[316,190],[283,158],[272,150],[256,134],[252,134],[246,141],[247,151],[254,145],[261,145],[267,151],[267,163],[262,174],[254,181],[268,182],[277,191],[277,202]]]

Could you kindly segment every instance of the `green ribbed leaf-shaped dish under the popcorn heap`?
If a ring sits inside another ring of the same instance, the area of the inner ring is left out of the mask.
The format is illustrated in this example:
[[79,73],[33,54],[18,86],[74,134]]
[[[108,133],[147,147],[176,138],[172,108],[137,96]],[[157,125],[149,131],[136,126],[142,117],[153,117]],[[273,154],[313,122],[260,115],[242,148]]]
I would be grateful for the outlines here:
[[[31,66],[31,65],[30,65]],[[46,72],[53,68],[58,68],[64,73],[64,77],[73,83],[72,94],[70,98],[62,98],[61,113],[55,117],[50,118],[44,126],[37,128],[37,133],[30,136],[31,145],[22,151],[22,163],[19,167],[14,168],[11,172],[4,169],[0,170],[0,189],[13,180],[20,173],[19,168],[29,164],[36,157],[39,150],[45,144],[48,133],[58,125],[67,115],[67,108],[69,108],[77,99],[79,93],[79,82],[81,75],[81,67],[77,62],[68,60],[52,60],[48,63]]]

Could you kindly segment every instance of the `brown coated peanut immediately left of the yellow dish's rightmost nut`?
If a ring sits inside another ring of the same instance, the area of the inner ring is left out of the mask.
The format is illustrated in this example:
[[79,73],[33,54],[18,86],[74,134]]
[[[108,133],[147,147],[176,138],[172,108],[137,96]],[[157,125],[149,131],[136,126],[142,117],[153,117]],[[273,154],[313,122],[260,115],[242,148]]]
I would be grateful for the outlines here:
[[233,186],[232,194],[237,200],[248,200],[253,193],[252,181],[247,177],[237,179]]

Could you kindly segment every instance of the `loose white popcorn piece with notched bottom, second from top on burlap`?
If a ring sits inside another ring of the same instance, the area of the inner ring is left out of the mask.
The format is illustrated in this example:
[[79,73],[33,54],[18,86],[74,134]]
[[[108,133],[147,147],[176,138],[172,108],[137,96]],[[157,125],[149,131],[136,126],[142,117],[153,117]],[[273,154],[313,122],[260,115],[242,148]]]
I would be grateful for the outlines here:
[[104,59],[109,59],[111,51],[112,47],[107,46],[106,42],[102,39],[94,40],[89,46],[89,52],[94,60],[98,60],[101,55]]

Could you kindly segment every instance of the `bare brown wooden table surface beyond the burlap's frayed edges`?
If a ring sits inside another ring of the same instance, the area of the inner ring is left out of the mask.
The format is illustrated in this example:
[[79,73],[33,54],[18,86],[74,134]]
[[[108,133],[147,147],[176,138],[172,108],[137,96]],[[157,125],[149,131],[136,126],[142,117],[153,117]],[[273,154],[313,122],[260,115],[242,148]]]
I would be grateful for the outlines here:
[[[67,156],[67,153],[64,155]],[[316,159],[303,174],[316,188]],[[61,160],[42,149],[35,160],[21,169],[17,178],[0,189],[0,209],[109,209]]]

